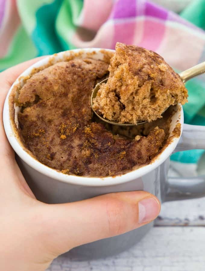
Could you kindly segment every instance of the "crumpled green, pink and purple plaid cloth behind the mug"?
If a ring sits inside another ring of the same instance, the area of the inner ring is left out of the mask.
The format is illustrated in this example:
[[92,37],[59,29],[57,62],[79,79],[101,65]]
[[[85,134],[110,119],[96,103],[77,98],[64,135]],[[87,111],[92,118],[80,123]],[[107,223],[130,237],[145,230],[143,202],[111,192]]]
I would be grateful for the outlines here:
[[[154,2],[0,0],[0,71],[73,48],[114,49],[116,42],[156,51],[178,72],[205,61],[205,0]],[[205,76],[186,86],[185,122],[205,125]],[[203,150],[176,153],[172,164],[181,175],[189,174],[182,164],[196,174],[202,154]]]

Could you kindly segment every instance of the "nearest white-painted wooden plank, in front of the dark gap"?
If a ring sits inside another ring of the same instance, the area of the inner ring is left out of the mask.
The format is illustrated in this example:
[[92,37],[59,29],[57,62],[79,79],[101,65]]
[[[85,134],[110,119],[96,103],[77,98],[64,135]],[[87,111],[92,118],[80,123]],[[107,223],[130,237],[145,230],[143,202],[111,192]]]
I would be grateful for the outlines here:
[[77,262],[60,256],[48,271],[204,271],[205,227],[154,227],[115,257]]

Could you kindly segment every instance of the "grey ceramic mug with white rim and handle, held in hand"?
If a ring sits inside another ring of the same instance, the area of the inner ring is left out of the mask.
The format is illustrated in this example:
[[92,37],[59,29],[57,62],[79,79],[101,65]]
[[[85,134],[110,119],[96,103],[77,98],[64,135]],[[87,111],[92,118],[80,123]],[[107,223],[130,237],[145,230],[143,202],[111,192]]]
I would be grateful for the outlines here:
[[[113,52],[113,50],[109,49],[103,50]],[[100,178],[66,175],[41,164],[24,150],[16,137],[12,125],[13,120],[10,118],[11,108],[9,108],[9,95],[11,91],[19,82],[23,85],[24,80],[22,78],[28,76],[33,68],[42,67],[50,62],[63,61],[74,54],[77,54],[77,58],[92,57],[95,59],[103,59],[104,57],[102,49],[86,48],[65,51],[44,58],[33,64],[17,78],[11,86],[5,100],[3,111],[5,132],[12,148],[16,152],[17,163],[31,190],[36,195],[36,198],[46,203],[65,203],[84,200],[111,192],[135,190],[150,192],[156,195],[162,203],[171,200],[205,196],[205,177],[186,179],[172,179],[167,177],[169,156],[173,152],[190,149],[205,149],[205,126],[184,124],[181,105],[176,106],[176,113],[172,117],[170,126],[170,136],[172,136],[172,131],[176,123],[181,123],[180,137],[173,138],[172,142],[151,164],[121,176]],[[69,255],[83,260],[117,254],[136,244],[152,226],[153,222],[119,236],[79,246],[69,251]]]

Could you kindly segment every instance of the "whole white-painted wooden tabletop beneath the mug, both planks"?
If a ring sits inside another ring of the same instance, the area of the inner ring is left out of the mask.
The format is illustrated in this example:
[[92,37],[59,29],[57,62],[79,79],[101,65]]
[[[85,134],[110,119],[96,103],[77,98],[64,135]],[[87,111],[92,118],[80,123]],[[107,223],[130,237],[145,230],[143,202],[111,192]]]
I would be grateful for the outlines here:
[[133,248],[101,260],[60,256],[48,271],[205,271],[205,198],[162,204],[155,227]]

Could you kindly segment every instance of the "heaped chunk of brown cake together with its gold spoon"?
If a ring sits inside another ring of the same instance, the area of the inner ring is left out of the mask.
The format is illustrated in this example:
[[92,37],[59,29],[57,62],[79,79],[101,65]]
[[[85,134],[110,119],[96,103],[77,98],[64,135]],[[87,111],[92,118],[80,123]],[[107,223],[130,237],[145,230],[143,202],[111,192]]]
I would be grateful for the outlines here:
[[134,126],[161,118],[170,105],[185,104],[184,83],[205,72],[205,62],[177,74],[153,51],[116,43],[109,77],[91,95],[95,114],[111,124]]

